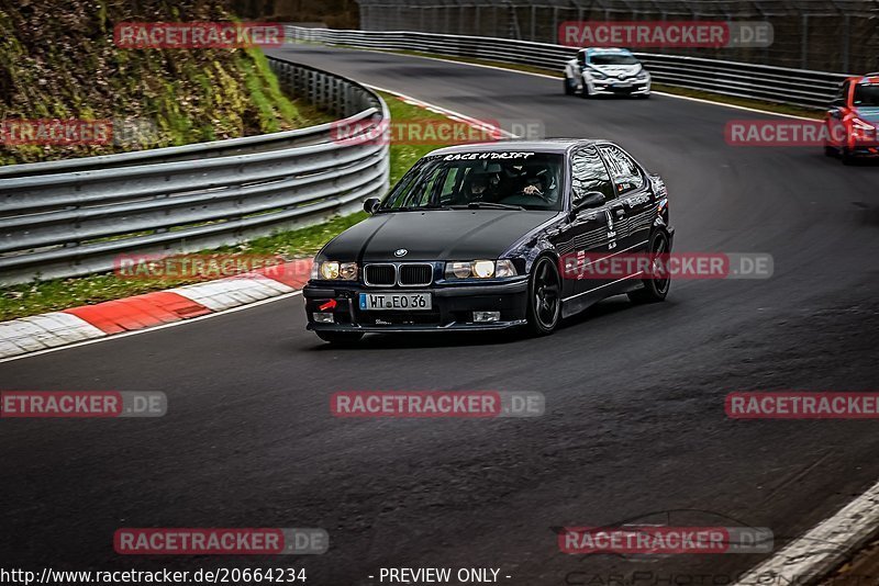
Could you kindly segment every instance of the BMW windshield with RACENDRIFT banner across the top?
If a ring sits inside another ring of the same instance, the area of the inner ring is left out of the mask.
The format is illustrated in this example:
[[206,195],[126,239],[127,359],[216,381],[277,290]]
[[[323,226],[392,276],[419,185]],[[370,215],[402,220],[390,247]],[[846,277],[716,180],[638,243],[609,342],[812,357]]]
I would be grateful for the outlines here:
[[419,161],[379,210],[561,210],[561,155],[456,153]]

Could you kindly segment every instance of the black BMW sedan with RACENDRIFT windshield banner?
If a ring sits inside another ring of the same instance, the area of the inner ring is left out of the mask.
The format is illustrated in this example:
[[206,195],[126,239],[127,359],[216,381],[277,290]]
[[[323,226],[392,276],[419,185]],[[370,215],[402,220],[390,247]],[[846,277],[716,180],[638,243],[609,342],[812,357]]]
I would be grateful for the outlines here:
[[[330,342],[366,333],[527,328],[610,295],[661,301],[669,279],[597,258],[666,255],[666,187],[605,140],[461,145],[423,157],[370,217],[333,238],[303,290],[309,329]],[[574,270],[571,270],[574,268]]]

